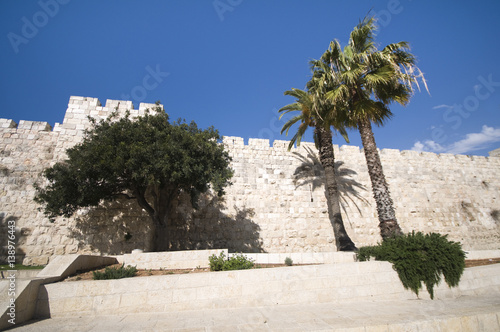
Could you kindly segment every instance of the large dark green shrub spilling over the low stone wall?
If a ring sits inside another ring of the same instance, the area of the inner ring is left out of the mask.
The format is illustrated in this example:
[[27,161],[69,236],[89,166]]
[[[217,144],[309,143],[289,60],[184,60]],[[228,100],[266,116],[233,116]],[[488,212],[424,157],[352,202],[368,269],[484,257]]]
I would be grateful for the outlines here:
[[405,289],[411,289],[418,296],[423,282],[434,299],[434,286],[441,281],[441,275],[449,287],[455,287],[465,268],[462,246],[446,237],[412,232],[386,239],[377,246],[362,247],[356,255],[359,261],[374,257],[391,262]]

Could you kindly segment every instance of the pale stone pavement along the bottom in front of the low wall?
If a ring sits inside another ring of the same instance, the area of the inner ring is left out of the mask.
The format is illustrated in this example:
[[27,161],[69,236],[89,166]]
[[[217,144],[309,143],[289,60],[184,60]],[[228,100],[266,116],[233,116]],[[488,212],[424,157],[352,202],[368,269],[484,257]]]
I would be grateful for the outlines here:
[[500,297],[75,316],[32,321],[9,331],[500,331]]

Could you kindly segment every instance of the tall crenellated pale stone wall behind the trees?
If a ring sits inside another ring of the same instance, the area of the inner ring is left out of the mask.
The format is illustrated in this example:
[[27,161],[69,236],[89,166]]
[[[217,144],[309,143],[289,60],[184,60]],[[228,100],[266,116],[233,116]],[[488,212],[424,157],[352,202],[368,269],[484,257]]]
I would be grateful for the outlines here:
[[[18,260],[45,264],[54,254],[122,254],[143,248],[150,221],[135,202],[103,204],[50,223],[32,198],[40,172],[63,160],[79,142],[88,116],[117,110],[144,114],[130,101],[71,97],[62,124],[0,119],[0,228],[15,220]],[[335,243],[326,207],[323,174],[314,145],[287,151],[287,141],[225,137],[233,158],[233,185],[226,196],[202,197],[198,210],[182,198],[172,214],[172,250],[229,248],[242,252],[325,252]],[[405,232],[449,234],[465,249],[500,248],[500,158],[418,153],[380,153]],[[335,146],[346,229],[358,246],[380,241],[378,219],[364,154],[359,147]],[[1,234],[5,234],[0,229]],[[0,239],[2,258],[6,239]]]

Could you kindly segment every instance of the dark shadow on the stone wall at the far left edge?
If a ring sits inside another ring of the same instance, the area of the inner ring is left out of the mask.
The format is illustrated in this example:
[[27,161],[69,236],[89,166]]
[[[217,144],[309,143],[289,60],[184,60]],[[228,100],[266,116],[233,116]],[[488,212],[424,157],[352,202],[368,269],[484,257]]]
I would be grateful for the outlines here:
[[[22,264],[26,256],[21,246],[25,243],[26,235],[28,234],[26,233],[26,229],[18,226],[18,220],[19,217],[13,215],[6,216],[4,212],[0,212],[0,264],[8,263],[9,244],[14,245],[16,250],[15,264]],[[12,226],[14,226],[14,240],[9,239],[9,235],[12,235],[12,232],[9,232],[12,230]]]

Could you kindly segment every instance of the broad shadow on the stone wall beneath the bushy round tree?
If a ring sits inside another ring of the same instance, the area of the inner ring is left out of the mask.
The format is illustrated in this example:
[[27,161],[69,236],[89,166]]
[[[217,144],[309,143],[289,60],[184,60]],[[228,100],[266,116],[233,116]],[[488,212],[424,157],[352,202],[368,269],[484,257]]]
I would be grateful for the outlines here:
[[[252,209],[227,209],[223,198],[211,194],[201,195],[198,205],[194,209],[188,195],[172,204],[168,227],[157,229],[160,239],[165,239],[157,251],[263,252]],[[79,211],[70,236],[80,252],[119,255],[146,248],[150,232],[149,215],[135,200],[120,199]]]

